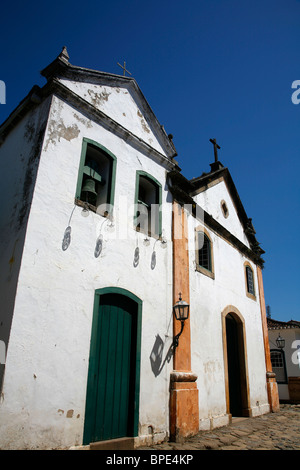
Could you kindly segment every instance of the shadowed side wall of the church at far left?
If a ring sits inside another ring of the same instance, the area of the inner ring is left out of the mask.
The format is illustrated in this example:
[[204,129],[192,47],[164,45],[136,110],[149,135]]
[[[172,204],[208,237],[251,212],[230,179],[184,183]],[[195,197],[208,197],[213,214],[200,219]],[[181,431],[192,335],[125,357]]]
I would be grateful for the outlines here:
[[[0,145],[0,340],[7,350],[27,220],[49,100],[33,109]],[[0,389],[4,364],[0,365]]]

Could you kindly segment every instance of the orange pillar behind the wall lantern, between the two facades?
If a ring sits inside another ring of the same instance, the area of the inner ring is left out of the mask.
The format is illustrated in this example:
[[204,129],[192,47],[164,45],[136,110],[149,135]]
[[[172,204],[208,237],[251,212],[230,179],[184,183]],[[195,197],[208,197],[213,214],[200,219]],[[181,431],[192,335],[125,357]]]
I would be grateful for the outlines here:
[[[190,303],[189,251],[187,216],[184,208],[173,202],[173,305],[179,300]],[[190,315],[191,315],[190,308]],[[181,323],[174,317],[173,334],[179,333]],[[174,353],[174,370],[171,373],[170,439],[180,441],[199,431],[199,404],[197,376],[191,371],[190,318],[185,320]]]

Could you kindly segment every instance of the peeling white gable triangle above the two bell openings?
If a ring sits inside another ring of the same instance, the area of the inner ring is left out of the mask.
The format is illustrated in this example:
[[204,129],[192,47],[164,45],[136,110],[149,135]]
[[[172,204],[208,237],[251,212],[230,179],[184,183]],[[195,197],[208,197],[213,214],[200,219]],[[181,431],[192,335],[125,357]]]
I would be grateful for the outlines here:
[[152,148],[167,156],[167,149],[154,129],[151,117],[147,116],[141,100],[130,86],[111,86],[64,78],[59,81]]

